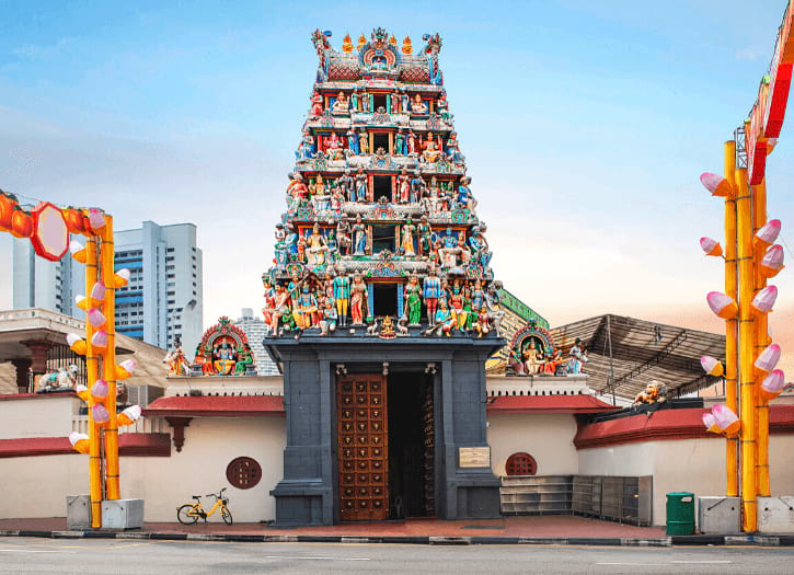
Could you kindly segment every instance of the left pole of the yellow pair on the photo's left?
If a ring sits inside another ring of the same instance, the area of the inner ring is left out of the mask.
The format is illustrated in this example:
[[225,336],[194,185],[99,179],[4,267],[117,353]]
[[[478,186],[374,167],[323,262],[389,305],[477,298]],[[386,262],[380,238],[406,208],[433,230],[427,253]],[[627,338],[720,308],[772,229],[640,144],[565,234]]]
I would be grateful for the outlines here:
[[[89,292],[96,283],[96,242],[88,238],[85,242],[85,290]],[[89,407],[89,481],[91,493],[91,527],[102,527],[102,453],[100,449],[100,427],[94,423],[93,406],[94,400],[91,396],[91,389],[99,377],[99,358],[93,349],[91,340],[94,336],[94,327],[91,322],[85,322],[85,370],[88,376],[88,399]]]

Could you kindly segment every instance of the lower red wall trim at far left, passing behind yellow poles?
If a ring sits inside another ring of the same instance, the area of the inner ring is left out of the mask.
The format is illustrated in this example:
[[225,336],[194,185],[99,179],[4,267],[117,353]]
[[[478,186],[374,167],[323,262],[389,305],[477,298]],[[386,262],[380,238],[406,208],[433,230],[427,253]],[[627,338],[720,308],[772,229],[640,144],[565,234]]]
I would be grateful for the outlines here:
[[[67,437],[0,439],[0,458],[79,456]],[[171,457],[170,434],[120,434],[118,455],[124,457]]]

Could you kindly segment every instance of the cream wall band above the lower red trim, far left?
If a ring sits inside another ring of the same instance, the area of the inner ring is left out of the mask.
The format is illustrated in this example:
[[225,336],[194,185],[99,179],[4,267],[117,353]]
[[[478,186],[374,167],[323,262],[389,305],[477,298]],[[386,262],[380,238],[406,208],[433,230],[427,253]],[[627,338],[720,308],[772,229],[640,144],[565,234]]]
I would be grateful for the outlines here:
[[0,439],[67,437],[79,401],[73,395],[0,401]]

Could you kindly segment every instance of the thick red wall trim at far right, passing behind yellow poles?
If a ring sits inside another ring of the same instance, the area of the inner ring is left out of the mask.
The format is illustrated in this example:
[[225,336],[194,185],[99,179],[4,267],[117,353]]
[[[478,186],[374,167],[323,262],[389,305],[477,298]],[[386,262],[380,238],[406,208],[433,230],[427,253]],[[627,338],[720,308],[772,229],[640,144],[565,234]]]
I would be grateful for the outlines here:
[[[576,449],[605,447],[637,441],[670,439],[723,439],[705,430],[701,415],[705,409],[660,410],[609,422],[580,425],[574,437]],[[794,433],[794,405],[770,406],[770,434]]]

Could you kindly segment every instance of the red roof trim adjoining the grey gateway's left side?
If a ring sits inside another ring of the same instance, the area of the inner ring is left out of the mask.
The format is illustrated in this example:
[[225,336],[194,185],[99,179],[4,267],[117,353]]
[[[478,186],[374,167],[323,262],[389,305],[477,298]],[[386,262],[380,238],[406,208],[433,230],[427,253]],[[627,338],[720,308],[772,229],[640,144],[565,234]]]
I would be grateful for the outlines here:
[[231,417],[285,415],[281,395],[172,395],[158,398],[145,416]]

